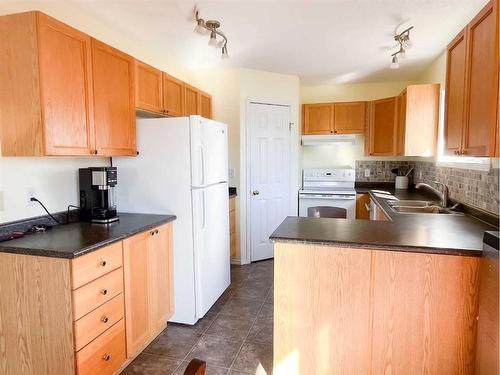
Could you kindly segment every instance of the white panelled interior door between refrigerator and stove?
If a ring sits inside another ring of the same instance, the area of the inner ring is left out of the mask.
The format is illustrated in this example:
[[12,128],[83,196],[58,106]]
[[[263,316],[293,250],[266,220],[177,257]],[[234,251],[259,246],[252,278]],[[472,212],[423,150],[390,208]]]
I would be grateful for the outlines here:
[[251,261],[274,256],[269,236],[290,212],[290,107],[249,104]]

